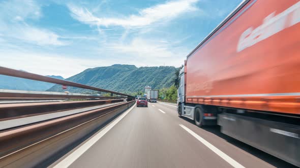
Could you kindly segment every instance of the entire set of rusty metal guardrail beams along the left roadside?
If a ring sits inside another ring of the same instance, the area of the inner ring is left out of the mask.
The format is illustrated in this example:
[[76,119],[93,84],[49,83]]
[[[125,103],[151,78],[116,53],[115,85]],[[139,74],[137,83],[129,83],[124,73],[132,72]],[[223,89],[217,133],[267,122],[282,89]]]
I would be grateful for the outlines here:
[[[0,105],[0,121],[9,123],[10,119],[16,118],[20,118],[19,120],[17,119],[18,121],[20,121],[21,118],[24,121],[24,124],[3,127],[0,131],[0,167],[45,167],[55,160],[55,158],[58,159],[61,157],[62,155],[60,154],[69,149],[71,150],[70,147],[75,147],[78,143],[84,141],[89,136],[92,136],[95,131],[99,130],[107,122],[135,103],[133,100],[134,97],[131,95],[82,85],[67,80],[51,78],[1,66],[0,74],[119,95],[118,97],[101,97],[73,93],[34,91],[18,91],[16,93],[16,91],[1,90],[1,101],[18,99],[26,101],[38,99],[53,100],[62,98],[85,99],[85,101]],[[124,98],[126,98],[128,102],[120,103],[124,101]],[[110,105],[110,103],[118,104]],[[102,105],[104,104],[108,105],[103,107]],[[92,106],[96,107],[91,108]],[[79,111],[68,115],[55,114],[55,112],[58,111],[73,109],[78,109]],[[54,115],[52,118],[42,118],[31,120],[30,122],[23,118],[33,116],[31,118],[36,119],[39,117],[38,115],[47,113],[54,113]]]

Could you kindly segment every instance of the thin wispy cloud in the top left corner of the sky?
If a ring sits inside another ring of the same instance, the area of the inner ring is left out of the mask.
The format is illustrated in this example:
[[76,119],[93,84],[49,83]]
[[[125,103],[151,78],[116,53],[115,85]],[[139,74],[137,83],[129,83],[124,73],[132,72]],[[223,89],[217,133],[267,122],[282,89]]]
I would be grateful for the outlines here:
[[41,7],[31,0],[6,1],[0,3],[0,33],[3,38],[21,39],[26,43],[36,45],[62,46],[66,43],[59,39],[59,35],[47,29],[28,25],[25,19],[39,19]]

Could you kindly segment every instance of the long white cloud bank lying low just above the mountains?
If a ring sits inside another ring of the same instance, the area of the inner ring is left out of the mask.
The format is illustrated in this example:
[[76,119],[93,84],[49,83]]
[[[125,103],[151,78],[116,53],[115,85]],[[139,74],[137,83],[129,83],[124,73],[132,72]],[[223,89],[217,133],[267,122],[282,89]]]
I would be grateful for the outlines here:
[[131,64],[137,67],[160,65],[178,67],[184,63],[188,50],[169,48],[168,45],[165,45],[165,41],[137,38],[128,45],[111,45],[94,58],[37,53],[23,49],[0,50],[0,53],[0,60],[3,60],[0,66],[41,75],[62,75],[67,78],[87,68],[113,64]]

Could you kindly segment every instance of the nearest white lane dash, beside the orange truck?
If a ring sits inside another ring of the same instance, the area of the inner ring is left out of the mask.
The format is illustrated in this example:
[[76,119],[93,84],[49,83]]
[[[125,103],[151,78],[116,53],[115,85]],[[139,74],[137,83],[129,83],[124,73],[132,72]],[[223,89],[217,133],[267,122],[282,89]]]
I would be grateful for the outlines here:
[[[180,127],[185,129],[188,133],[190,133],[192,136],[194,136],[197,140],[199,140],[202,144],[204,144],[206,147],[211,149],[213,152],[215,152],[217,155],[219,155],[222,159],[227,161],[229,164],[231,164],[233,167],[244,167],[242,164],[239,164],[237,161],[233,160],[231,157],[229,157],[227,154],[216,148],[211,143],[204,140],[202,137],[200,137],[198,134],[194,133],[192,130],[188,129],[185,125],[179,124]],[[244,167],[245,168],[245,167]]]

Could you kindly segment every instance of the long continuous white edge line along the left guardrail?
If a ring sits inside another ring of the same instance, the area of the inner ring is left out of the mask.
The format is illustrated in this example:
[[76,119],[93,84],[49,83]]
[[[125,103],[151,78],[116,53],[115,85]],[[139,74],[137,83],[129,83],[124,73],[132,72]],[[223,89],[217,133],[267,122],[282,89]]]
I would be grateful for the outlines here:
[[103,130],[101,130],[97,135],[95,135],[93,138],[88,140],[86,143],[84,143],[82,146],[80,146],[78,149],[76,149],[74,152],[72,152],[66,158],[64,158],[63,160],[58,162],[54,166],[54,168],[70,166],[77,158],[79,158],[85,151],[87,151],[97,141],[99,141],[100,138],[102,138],[110,129],[112,129],[115,124],[117,124],[119,121],[121,121],[121,119],[124,118],[134,107],[135,107],[135,105],[133,105],[130,109],[125,111],[121,116],[117,117],[114,121],[112,121],[110,124],[108,124],[107,127],[105,127]]

